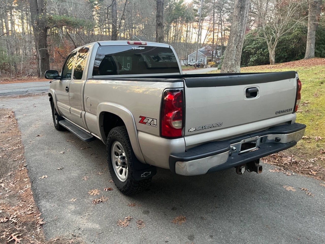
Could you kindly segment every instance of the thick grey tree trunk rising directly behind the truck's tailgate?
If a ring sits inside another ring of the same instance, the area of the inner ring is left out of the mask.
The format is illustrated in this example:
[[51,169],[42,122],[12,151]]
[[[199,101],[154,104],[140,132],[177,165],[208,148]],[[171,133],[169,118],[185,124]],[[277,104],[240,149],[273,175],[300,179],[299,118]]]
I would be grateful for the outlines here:
[[221,73],[239,73],[250,0],[236,0]]

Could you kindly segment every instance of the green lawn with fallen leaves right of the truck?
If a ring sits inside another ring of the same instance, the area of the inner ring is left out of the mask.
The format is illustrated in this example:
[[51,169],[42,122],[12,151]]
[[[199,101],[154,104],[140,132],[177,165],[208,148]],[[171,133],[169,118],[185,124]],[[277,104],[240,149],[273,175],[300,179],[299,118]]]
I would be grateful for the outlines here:
[[[319,59],[316,59],[319,61]],[[324,65],[299,66],[299,63],[283,63],[274,66],[261,65],[243,67],[244,72],[277,72],[294,70],[298,72],[302,83],[301,102],[297,112],[296,122],[305,124],[305,138],[297,143],[297,146],[286,150],[286,154],[294,155],[296,160],[311,162],[325,168],[325,59]],[[297,61],[295,61],[297,62]],[[294,65],[296,64],[296,65]],[[215,73],[211,72],[211,73]],[[313,162],[313,158],[316,161]],[[315,163],[316,162],[316,163]]]

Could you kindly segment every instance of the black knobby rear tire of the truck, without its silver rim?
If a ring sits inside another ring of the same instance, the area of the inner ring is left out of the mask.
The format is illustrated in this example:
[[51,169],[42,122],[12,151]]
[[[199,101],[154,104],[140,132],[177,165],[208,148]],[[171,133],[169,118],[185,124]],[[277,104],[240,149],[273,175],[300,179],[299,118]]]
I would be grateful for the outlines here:
[[[127,158],[128,164],[128,175],[127,179],[123,182],[118,179],[116,176],[115,170],[112,165],[111,159],[111,148],[114,142],[120,142],[123,146],[125,151],[125,155]],[[107,152],[107,163],[108,168],[110,169],[110,175],[115,183],[115,186],[124,194],[124,195],[131,195],[147,189],[151,184],[151,178],[147,178],[141,181],[136,181],[133,177],[133,164],[140,163],[131,147],[131,142],[129,139],[129,135],[125,126],[115,127],[110,130],[110,133],[107,137],[106,142],[106,152]]]

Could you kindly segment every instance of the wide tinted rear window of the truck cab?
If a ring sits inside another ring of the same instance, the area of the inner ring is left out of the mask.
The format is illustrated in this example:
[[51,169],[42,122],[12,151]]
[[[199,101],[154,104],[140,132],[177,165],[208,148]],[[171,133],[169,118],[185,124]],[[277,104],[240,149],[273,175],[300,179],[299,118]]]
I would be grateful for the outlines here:
[[177,59],[169,47],[100,46],[93,75],[142,75],[179,73]]

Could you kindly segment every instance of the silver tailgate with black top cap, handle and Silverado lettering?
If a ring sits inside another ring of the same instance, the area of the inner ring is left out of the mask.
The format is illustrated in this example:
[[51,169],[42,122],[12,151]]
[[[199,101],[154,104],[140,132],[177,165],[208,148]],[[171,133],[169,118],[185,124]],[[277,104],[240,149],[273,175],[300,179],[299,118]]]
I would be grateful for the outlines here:
[[231,127],[291,114],[294,110],[294,71],[220,75],[184,78],[185,136],[229,128],[230,137]]

